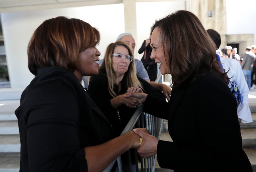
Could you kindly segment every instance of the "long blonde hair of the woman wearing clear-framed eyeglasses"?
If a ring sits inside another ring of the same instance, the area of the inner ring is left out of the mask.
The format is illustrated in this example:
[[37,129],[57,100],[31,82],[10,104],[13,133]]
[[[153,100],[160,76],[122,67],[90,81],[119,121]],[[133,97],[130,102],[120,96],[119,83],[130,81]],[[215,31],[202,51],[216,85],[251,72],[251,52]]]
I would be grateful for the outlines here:
[[[114,49],[117,46],[123,46],[125,48],[127,48],[129,55],[133,56],[133,52],[130,49],[130,47],[123,41],[117,41],[115,43],[111,43],[110,45],[108,45],[107,49],[106,49],[106,53],[105,56],[103,58],[102,64],[100,66],[100,71],[105,69],[106,70],[106,74],[107,74],[107,79],[108,79],[108,91],[110,93],[110,95],[112,97],[116,97],[117,94],[114,92],[113,88],[114,88],[114,84],[115,84],[115,71],[112,67],[112,53],[114,53]],[[132,62],[130,62],[130,65],[128,67],[128,70],[126,71],[126,73],[124,74],[124,78],[125,80],[125,85],[126,87],[134,87],[137,86],[139,88],[143,89],[142,84],[140,83],[140,81],[137,78],[136,75],[136,67],[135,67],[135,61],[133,59]]]

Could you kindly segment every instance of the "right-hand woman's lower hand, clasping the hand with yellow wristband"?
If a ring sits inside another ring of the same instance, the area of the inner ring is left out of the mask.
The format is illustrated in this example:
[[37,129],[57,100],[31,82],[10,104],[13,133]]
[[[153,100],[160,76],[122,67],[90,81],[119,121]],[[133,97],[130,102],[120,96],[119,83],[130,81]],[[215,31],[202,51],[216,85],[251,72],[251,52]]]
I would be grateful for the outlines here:
[[142,138],[142,143],[137,148],[139,156],[148,159],[157,153],[158,138],[150,134],[146,134],[141,129],[133,129],[133,132]]

